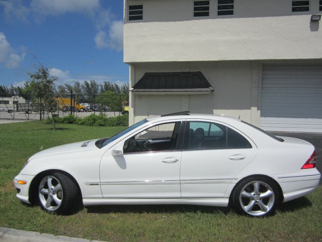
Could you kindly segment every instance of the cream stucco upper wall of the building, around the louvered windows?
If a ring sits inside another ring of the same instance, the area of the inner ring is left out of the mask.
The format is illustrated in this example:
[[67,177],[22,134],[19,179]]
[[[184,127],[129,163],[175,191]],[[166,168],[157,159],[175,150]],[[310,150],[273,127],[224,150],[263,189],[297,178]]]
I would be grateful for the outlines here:
[[[241,4],[243,2],[243,4]],[[192,1],[129,1],[144,6],[144,20],[125,14],[124,62],[186,62],[252,59],[314,59],[322,56],[319,13],[291,13],[291,1],[235,1],[233,16],[194,18]],[[125,3],[125,8],[127,4]],[[125,11],[125,13],[127,13]],[[321,21],[320,21],[321,22]]]

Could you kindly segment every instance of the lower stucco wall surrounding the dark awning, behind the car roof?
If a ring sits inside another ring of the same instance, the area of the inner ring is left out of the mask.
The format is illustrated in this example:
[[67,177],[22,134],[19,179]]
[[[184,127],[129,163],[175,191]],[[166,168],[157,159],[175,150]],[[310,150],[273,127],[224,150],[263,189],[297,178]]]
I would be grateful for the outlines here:
[[[255,124],[258,122],[259,124],[258,89],[256,88],[252,94],[252,82],[257,83],[258,81],[258,76],[253,74],[254,67],[256,70],[258,69],[258,65],[254,65],[250,61],[135,64],[130,70],[132,80],[135,80],[131,82],[131,86],[145,72],[201,71],[214,88],[214,92],[199,95],[142,95],[130,93],[130,113],[133,113],[130,116],[130,123],[136,123],[147,115],[190,110],[194,113],[240,116],[247,122]],[[252,95],[255,96],[255,102],[252,102]]]

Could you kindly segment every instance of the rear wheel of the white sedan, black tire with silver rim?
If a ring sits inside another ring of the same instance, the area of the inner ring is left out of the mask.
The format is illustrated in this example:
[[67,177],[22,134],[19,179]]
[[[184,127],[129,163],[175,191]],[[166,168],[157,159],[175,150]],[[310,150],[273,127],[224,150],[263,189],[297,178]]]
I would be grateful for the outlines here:
[[[256,191],[258,191],[257,194]],[[253,176],[237,184],[230,199],[237,213],[260,217],[271,215],[274,212],[280,202],[280,193],[272,179],[265,176]]]

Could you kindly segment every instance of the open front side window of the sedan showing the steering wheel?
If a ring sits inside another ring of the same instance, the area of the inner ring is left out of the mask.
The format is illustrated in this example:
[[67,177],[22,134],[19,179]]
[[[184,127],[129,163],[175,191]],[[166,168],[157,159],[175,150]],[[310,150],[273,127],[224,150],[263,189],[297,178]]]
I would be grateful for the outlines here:
[[123,153],[177,150],[181,122],[148,128],[124,142]]

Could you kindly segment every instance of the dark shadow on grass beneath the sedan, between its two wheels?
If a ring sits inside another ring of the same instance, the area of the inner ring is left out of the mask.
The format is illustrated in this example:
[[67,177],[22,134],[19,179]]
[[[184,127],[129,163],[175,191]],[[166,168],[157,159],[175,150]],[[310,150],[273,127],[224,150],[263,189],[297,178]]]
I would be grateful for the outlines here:
[[231,209],[197,205],[102,205],[86,207],[88,213],[209,213],[228,214]]

